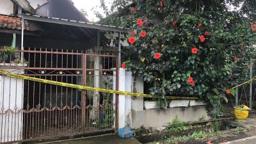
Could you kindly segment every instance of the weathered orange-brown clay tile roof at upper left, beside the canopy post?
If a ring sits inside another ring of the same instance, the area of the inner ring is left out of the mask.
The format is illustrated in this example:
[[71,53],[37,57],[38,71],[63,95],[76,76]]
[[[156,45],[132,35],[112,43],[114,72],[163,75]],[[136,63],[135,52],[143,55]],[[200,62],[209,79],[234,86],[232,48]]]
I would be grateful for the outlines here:
[[[24,20],[24,26],[25,30],[31,31],[28,20]],[[0,28],[21,29],[21,19],[19,17],[0,15]]]

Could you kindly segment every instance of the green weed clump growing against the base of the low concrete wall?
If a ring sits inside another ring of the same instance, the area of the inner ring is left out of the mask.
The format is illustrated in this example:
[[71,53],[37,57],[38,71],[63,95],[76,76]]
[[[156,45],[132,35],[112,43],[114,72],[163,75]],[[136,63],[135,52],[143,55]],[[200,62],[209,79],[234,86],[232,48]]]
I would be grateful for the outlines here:
[[172,120],[172,122],[168,125],[168,131],[180,132],[189,129],[189,125],[185,125],[184,122],[179,120],[177,116]]

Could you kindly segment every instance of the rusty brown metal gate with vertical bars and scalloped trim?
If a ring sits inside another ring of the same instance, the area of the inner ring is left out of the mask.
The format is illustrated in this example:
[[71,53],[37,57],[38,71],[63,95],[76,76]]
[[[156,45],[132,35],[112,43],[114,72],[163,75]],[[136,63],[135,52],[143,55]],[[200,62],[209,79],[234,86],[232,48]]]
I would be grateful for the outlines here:
[[[27,63],[2,60],[15,74],[63,83],[118,88],[118,54],[58,49],[25,49]],[[3,58],[4,59],[4,58]],[[117,99],[90,92],[1,76],[0,142],[26,141],[115,130]]]

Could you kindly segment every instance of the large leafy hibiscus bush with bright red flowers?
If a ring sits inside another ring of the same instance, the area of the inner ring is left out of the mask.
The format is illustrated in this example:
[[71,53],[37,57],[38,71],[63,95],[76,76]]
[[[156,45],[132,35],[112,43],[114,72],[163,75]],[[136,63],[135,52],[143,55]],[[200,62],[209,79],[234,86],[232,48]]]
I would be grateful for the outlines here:
[[131,30],[122,67],[143,77],[148,93],[214,104],[227,100],[241,76],[236,66],[255,51],[254,18],[228,7],[242,2],[119,0],[113,7],[117,12],[101,22]]

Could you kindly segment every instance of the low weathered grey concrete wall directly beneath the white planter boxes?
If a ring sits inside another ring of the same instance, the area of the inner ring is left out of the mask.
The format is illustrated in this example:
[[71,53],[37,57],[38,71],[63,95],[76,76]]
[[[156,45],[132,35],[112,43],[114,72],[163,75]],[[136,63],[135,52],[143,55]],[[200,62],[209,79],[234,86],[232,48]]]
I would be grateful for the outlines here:
[[188,108],[168,108],[168,109],[144,109],[143,111],[132,110],[132,129],[141,126],[149,128],[163,127],[177,116],[183,122],[199,121],[204,116],[205,120],[210,120],[207,115],[206,106],[193,106]]

